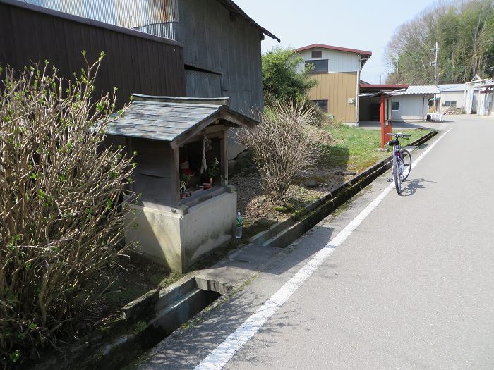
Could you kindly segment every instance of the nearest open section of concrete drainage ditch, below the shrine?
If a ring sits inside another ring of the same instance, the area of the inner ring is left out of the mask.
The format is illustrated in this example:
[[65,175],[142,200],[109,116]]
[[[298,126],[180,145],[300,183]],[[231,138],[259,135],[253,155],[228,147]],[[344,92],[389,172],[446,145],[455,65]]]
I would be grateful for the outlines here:
[[229,291],[230,285],[189,274],[123,307],[123,317],[72,347],[64,357],[35,366],[47,369],[121,369],[167,338]]

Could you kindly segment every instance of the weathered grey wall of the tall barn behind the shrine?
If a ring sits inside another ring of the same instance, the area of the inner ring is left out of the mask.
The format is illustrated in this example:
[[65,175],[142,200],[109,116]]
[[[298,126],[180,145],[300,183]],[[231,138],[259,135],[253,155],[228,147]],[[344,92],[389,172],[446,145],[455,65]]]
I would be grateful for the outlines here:
[[[189,97],[217,97],[246,116],[263,109],[260,30],[219,1],[180,0],[176,39],[183,43]],[[202,73],[193,73],[201,70]],[[190,71],[190,73],[189,73]],[[210,73],[207,73],[207,72]]]

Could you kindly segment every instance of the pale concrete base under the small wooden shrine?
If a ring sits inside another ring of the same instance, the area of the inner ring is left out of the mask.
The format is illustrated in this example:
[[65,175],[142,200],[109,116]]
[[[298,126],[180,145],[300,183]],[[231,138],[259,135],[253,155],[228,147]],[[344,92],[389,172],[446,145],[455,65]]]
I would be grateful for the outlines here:
[[233,187],[193,206],[174,209],[147,203],[133,208],[136,225],[126,232],[126,242],[137,240],[143,254],[180,273],[235,235]]

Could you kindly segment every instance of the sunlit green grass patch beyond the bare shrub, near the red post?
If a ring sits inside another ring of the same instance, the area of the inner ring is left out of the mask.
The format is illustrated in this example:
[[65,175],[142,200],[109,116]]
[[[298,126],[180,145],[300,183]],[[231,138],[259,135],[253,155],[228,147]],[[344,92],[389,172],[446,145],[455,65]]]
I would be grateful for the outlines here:
[[[336,140],[335,144],[327,145],[325,149],[324,163],[330,166],[347,167],[348,171],[360,173],[369,166],[390,156],[390,152],[380,152],[380,130],[364,130],[342,123],[330,125],[327,129]],[[425,130],[403,130],[410,134],[410,140],[400,140],[402,145],[414,142],[419,137],[426,135]]]

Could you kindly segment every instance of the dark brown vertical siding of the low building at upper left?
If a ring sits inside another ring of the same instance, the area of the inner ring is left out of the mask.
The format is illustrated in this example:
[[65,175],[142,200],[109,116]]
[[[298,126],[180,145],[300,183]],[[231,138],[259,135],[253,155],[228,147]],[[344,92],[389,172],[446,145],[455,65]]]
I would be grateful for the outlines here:
[[14,68],[48,60],[71,78],[85,67],[81,51],[95,61],[107,54],[97,77],[97,94],[118,87],[117,104],[133,92],[185,96],[185,71],[181,44],[86,20],[37,6],[0,0],[0,66]]

